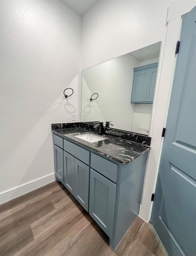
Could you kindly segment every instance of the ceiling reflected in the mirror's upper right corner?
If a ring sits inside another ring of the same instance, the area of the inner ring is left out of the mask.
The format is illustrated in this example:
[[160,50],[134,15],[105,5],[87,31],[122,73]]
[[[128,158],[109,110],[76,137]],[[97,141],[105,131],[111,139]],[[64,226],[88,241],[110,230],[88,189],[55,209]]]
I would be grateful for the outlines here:
[[147,47],[143,47],[134,52],[130,52],[130,54],[139,62],[148,61],[153,58],[159,57],[160,47],[161,42],[157,42],[155,44],[148,45]]

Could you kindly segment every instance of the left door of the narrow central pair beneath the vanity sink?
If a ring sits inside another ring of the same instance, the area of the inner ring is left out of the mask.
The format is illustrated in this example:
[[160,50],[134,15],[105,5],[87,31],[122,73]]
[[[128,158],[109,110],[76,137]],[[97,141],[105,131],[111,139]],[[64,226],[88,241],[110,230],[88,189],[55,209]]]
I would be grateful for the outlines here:
[[64,157],[64,185],[74,195],[75,175],[74,175],[74,157],[63,151]]

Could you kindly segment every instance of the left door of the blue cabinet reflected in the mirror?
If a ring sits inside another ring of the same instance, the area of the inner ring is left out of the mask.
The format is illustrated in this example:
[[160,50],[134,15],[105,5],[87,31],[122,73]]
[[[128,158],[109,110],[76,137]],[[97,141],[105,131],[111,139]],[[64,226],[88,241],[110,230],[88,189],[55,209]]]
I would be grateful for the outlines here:
[[149,70],[134,72],[131,102],[145,102],[148,88]]

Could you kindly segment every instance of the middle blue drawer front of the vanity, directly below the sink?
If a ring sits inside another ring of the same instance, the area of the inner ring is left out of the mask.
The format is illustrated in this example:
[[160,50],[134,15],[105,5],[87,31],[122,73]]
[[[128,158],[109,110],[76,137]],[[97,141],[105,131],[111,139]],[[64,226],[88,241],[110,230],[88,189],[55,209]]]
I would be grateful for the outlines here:
[[64,150],[89,165],[90,152],[80,146],[64,140]]

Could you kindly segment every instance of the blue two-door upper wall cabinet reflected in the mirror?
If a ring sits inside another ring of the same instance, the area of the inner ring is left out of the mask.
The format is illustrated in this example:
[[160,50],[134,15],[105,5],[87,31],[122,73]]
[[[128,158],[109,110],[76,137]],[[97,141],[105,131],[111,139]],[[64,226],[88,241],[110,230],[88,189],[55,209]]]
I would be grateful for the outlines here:
[[131,103],[153,103],[158,62],[134,68]]

